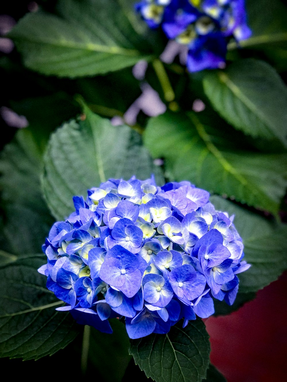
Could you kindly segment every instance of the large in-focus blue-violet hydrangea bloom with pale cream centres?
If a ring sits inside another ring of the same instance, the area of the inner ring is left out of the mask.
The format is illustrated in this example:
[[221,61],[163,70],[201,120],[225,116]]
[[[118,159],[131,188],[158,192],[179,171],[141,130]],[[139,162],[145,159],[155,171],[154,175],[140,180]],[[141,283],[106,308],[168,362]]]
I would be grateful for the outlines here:
[[111,333],[125,317],[130,338],[167,333],[182,318],[232,304],[236,274],[249,268],[232,217],[188,181],[110,179],[73,198],[75,212],[55,223],[43,245],[47,288],[80,324]]

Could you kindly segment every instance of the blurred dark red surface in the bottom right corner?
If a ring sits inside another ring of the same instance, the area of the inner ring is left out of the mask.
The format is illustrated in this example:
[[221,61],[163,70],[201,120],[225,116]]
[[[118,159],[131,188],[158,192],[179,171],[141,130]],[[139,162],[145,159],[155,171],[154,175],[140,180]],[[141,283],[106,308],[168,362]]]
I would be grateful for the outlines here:
[[287,380],[287,272],[238,311],[205,320],[211,362],[228,382]]

